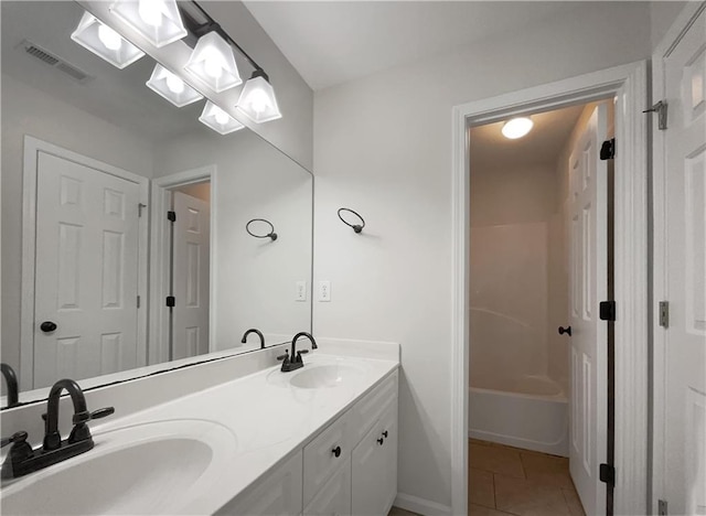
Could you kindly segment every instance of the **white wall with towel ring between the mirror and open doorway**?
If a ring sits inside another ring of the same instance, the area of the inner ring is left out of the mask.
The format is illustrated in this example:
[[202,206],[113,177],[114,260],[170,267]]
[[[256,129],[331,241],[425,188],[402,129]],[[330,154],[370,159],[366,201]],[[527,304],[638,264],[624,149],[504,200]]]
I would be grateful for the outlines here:
[[[402,494],[451,504],[452,107],[646,58],[650,23],[645,4],[579,3],[315,94],[314,282],[331,280],[332,301],[314,303],[314,331],[402,343]],[[366,218],[362,235],[340,206]]]

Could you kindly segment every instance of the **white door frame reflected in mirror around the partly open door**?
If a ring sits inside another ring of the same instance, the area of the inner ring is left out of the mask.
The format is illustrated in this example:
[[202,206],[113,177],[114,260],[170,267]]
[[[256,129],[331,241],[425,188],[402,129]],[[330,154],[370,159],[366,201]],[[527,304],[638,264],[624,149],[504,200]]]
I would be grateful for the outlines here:
[[171,197],[170,190],[205,181],[211,183],[208,326],[212,331],[208,332],[208,352],[215,351],[213,329],[216,327],[216,311],[213,308],[215,307],[216,286],[218,284],[215,280],[216,269],[214,267],[216,256],[216,239],[214,235],[217,227],[217,195],[215,194],[217,166],[208,164],[152,180],[150,193],[152,206],[152,209],[150,209],[150,270],[152,271],[150,275],[150,301],[153,302],[150,302],[150,346],[148,354],[148,364],[150,365],[169,361],[169,343],[167,342],[167,336],[169,335],[169,311],[164,303],[160,301],[169,295],[169,257],[167,256],[169,223],[165,216],[158,216],[158,214],[164,215],[167,213]]

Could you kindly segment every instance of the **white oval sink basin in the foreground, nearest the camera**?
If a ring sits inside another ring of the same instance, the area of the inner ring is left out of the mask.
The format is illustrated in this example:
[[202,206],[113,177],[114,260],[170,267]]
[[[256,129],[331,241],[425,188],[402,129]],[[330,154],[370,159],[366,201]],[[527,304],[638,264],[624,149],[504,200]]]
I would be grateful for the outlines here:
[[171,420],[94,434],[95,448],[9,482],[2,514],[184,514],[236,450],[225,427]]

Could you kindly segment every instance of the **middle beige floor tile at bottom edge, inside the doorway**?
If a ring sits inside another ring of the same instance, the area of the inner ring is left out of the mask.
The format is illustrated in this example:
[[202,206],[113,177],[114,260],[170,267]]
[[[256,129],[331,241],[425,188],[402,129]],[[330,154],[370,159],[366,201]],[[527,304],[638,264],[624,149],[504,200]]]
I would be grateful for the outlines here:
[[520,516],[570,516],[560,487],[495,475],[495,506]]

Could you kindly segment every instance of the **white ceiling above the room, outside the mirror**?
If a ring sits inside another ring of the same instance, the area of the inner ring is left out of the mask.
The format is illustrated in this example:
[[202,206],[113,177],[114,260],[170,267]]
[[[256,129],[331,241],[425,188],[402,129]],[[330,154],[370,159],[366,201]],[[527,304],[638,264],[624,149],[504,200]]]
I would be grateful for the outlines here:
[[582,3],[245,0],[314,90],[516,32]]

